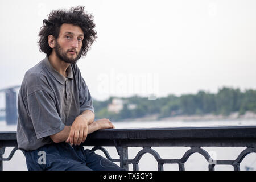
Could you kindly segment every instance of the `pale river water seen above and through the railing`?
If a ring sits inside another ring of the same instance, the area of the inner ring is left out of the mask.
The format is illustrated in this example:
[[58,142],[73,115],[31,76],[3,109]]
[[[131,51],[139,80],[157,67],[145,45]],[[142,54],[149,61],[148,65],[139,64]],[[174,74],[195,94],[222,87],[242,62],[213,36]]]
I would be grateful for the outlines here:
[[[234,119],[222,121],[143,121],[143,122],[113,122],[115,128],[150,128],[150,127],[191,127],[191,126],[246,126],[256,125],[256,119]],[[0,131],[16,131],[15,125],[6,125],[6,122],[0,121]],[[14,147],[6,147],[3,158],[7,158]],[[85,147],[92,148],[92,147]],[[115,147],[105,147],[113,159],[118,159],[119,156]],[[162,159],[180,159],[190,147],[152,147],[156,150]],[[245,150],[246,147],[201,147],[206,150],[213,159],[217,160],[234,160],[237,156]],[[129,147],[129,159],[134,159],[142,147]],[[103,152],[97,150],[97,154],[104,156]],[[117,163],[118,164],[118,163]],[[185,170],[208,170],[208,161],[203,155],[195,153],[192,154],[187,162],[185,162]],[[118,164],[119,165],[119,164]],[[139,170],[155,171],[158,163],[151,154],[144,154],[139,160]],[[164,170],[178,170],[178,164],[164,164]],[[245,157],[240,164],[241,170],[256,170],[256,154],[252,153]],[[27,170],[26,159],[20,150],[16,151],[10,161],[3,162],[3,170]],[[129,170],[133,170],[132,164],[129,164]],[[231,165],[216,165],[215,170],[233,170]]]

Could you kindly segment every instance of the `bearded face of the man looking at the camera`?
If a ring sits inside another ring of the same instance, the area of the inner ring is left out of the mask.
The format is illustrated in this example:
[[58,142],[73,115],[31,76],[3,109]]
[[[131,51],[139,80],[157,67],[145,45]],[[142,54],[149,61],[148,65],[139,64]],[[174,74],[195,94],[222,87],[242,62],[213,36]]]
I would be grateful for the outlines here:
[[65,63],[75,64],[81,57],[84,32],[79,26],[63,23],[55,47],[57,57]]

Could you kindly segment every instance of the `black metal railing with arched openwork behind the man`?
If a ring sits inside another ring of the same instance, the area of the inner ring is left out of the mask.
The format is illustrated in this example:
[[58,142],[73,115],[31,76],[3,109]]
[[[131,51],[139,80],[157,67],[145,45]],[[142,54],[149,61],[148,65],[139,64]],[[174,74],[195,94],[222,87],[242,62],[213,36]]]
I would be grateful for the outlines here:
[[[199,153],[207,160],[210,171],[216,165],[232,165],[235,171],[240,170],[240,163],[246,155],[256,152],[256,126],[218,126],[218,127],[176,127],[150,129],[105,129],[89,134],[83,146],[93,146],[92,150],[101,150],[106,158],[119,162],[126,170],[133,164],[133,170],[139,169],[139,160],[146,153],[152,154],[158,162],[158,170],[164,170],[163,164],[177,164],[179,170],[185,170],[184,163],[189,156]],[[119,159],[111,158],[104,148],[114,146]],[[15,147],[8,158],[3,158],[5,147]],[[128,158],[129,147],[143,147],[134,159]],[[162,159],[151,147],[191,147],[180,159]],[[213,159],[201,147],[246,147],[235,160]],[[0,131],[0,170],[3,161],[10,160],[18,150],[16,132]]]

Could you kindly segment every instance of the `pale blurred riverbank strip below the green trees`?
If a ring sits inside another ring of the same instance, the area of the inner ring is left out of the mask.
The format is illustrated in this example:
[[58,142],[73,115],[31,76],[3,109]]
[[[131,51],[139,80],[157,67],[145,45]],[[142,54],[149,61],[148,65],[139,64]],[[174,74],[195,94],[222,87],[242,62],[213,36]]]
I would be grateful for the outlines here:
[[147,115],[142,118],[130,118],[123,119],[122,121],[216,121],[216,120],[227,120],[227,119],[256,119],[256,113],[246,111],[245,114],[239,115],[238,112],[231,113],[230,115],[176,115],[173,117],[159,118],[159,114]]

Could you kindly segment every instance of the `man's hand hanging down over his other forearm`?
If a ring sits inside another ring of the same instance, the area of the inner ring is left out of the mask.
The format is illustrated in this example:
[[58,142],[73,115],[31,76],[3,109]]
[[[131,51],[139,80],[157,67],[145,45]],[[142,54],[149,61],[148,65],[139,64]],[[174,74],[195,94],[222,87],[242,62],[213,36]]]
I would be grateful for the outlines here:
[[70,143],[71,145],[78,144],[80,145],[81,142],[84,142],[88,134],[88,121],[84,119],[81,115],[79,115],[75,121],[72,123],[71,130],[69,132],[68,139],[66,142]]

